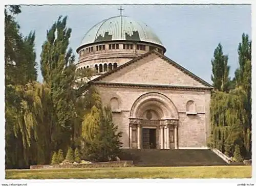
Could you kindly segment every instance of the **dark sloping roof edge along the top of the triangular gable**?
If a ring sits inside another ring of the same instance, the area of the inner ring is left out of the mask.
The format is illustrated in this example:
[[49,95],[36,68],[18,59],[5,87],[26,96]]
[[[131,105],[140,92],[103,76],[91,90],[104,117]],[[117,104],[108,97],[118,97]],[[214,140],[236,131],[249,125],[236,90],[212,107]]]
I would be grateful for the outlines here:
[[182,67],[181,65],[179,65],[178,63],[176,63],[175,61],[167,58],[166,56],[162,55],[161,53],[159,53],[158,51],[156,51],[155,49],[154,50],[151,50],[151,51],[148,51],[146,52],[145,54],[127,62],[127,63],[124,63],[122,65],[120,65],[119,67],[117,67],[116,69],[113,69],[112,71],[109,71],[109,72],[106,72],[102,75],[100,75],[99,77],[93,79],[91,82],[97,82],[99,81],[100,79],[104,78],[105,76],[108,76],[112,73],[115,73],[116,71],[119,71],[120,69],[122,68],[125,68],[126,66],[129,66],[137,61],[139,61],[140,59],[142,58],[145,58],[151,54],[156,54],[157,56],[159,56],[161,59],[165,60],[166,62],[168,62],[169,64],[175,66],[176,68],[178,68],[179,70],[181,70],[182,72],[184,72],[185,74],[189,75],[191,78],[195,79],[196,81],[200,82],[201,84],[207,86],[207,87],[212,87],[212,85],[210,85],[209,83],[207,83],[206,81],[204,81],[202,78],[198,77],[197,75],[195,75],[194,73],[190,72],[189,70],[187,70],[186,68]]

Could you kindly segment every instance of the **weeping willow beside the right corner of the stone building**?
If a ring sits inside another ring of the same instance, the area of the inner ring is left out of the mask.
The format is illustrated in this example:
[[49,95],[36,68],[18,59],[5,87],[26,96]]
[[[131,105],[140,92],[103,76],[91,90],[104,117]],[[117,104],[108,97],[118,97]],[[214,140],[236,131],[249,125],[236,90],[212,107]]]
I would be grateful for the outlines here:
[[232,155],[234,146],[248,148],[248,117],[245,109],[246,92],[238,87],[230,93],[215,92],[211,98],[211,142],[227,155]]

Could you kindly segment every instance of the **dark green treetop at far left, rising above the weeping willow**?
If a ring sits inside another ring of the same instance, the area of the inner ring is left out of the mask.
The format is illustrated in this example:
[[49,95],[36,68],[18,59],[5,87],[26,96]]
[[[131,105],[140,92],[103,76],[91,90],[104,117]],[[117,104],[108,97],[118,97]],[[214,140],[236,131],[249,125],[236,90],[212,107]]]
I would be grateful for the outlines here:
[[5,8],[5,73],[6,84],[25,85],[37,78],[34,40],[35,33],[23,38],[15,15],[19,6]]

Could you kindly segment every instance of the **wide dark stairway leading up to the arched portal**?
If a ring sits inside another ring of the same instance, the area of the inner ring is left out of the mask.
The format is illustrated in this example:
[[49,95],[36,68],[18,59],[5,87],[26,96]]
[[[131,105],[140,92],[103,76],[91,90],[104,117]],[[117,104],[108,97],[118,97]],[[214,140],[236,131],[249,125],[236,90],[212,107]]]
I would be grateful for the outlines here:
[[137,167],[228,165],[211,150],[122,149],[120,160],[132,160]]

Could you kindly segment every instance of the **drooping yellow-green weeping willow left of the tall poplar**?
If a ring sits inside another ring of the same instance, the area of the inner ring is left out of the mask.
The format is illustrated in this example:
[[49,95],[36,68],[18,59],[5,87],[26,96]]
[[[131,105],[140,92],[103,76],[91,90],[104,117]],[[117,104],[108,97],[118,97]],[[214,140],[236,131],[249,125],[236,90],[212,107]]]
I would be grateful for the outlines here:
[[14,131],[15,135],[22,134],[24,160],[27,164],[48,163],[52,139],[50,88],[47,84],[32,82],[20,91],[23,100]]

